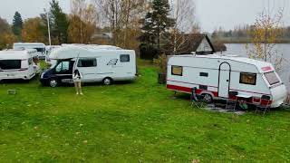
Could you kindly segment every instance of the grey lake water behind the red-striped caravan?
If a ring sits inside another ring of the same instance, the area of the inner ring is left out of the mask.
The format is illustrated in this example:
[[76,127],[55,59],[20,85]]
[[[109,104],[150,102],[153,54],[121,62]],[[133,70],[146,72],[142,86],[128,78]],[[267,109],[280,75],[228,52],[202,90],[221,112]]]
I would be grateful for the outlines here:
[[[227,43],[227,53],[237,54],[239,56],[247,57],[246,44],[244,43]],[[283,53],[285,62],[283,63],[283,70],[279,72],[279,75],[285,85],[287,90],[290,91],[290,43],[281,43],[275,45],[275,50],[278,53]]]

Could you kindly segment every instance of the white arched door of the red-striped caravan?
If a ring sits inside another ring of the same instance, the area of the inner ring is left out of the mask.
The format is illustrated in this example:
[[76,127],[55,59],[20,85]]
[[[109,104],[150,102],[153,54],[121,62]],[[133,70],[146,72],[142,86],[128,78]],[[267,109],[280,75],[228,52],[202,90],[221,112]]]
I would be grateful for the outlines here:
[[228,62],[222,62],[218,69],[218,97],[228,98],[231,67]]

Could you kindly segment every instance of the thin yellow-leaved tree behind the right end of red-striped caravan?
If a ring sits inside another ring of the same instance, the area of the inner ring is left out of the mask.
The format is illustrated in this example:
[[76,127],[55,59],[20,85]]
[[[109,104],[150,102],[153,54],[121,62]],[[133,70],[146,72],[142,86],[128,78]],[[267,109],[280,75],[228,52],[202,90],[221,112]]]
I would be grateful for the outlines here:
[[277,72],[281,71],[284,60],[283,54],[275,50],[275,43],[282,34],[283,11],[283,9],[280,9],[275,15],[266,13],[266,11],[259,14],[255,25],[249,32],[254,47],[250,48],[248,44],[246,46],[250,58],[272,62]]

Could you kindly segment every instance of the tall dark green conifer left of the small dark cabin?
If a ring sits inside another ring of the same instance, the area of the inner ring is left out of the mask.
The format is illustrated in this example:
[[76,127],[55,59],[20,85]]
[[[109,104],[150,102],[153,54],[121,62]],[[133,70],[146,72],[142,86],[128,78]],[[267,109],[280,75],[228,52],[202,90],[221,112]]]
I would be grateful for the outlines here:
[[[160,38],[174,25],[174,20],[169,17],[168,0],[153,0],[150,4],[150,12],[141,20],[141,41],[156,44],[160,50]],[[157,41],[157,43],[155,43]]]

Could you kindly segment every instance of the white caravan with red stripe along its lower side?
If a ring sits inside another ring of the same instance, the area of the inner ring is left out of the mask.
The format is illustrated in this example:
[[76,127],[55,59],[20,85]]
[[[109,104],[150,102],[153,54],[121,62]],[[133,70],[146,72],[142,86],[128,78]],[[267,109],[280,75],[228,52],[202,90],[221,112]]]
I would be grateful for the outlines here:
[[272,108],[286,98],[284,83],[271,63],[235,55],[177,55],[169,58],[167,88],[202,95],[204,101],[227,100],[230,95],[258,105],[262,97]]

